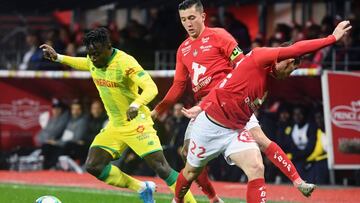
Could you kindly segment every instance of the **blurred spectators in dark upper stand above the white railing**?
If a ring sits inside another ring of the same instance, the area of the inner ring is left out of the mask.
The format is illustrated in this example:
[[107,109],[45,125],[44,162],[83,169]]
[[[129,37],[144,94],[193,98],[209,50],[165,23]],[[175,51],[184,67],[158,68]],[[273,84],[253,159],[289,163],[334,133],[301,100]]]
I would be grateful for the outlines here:
[[[280,23],[275,25],[272,33],[269,33],[270,37],[259,33],[254,40],[251,40],[247,26],[230,12],[224,14],[222,21],[217,15],[208,16],[207,24],[210,27],[225,28],[235,37],[240,48],[247,53],[258,46],[275,47],[288,41],[296,42],[303,39],[326,37],[332,33],[335,25],[341,20],[339,16],[326,16],[320,24],[310,21],[305,26],[296,23],[292,25]],[[360,54],[360,51],[356,50],[357,47],[360,47],[358,20],[355,18],[350,20],[354,28],[345,40],[333,47],[321,49],[304,57],[301,66],[304,68],[331,68],[334,59],[337,69],[359,70],[358,64],[351,63],[358,61]],[[185,39],[186,34],[181,27],[177,13],[173,10],[160,9],[154,13],[150,12],[147,21],[148,23],[143,25],[136,20],[129,20],[123,29],[119,29],[114,22],[110,22],[106,27],[110,31],[114,47],[133,55],[145,69],[153,69],[155,51],[176,50],[182,40]],[[94,24],[92,28],[98,26],[100,25]],[[40,44],[46,43],[53,46],[58,53],[69,56],[84,56],[86,50],[82,44],[82,39],[87,31],[80,24],[75,24],[72,27],[59,26],[41,31],[29,30],[26,32],[27,48],[22,56],[22,62],[13,68],[20,70],[68,69],[63,65],[45,61],[38,47]],[[333,50],[336,52],[332,53]]]

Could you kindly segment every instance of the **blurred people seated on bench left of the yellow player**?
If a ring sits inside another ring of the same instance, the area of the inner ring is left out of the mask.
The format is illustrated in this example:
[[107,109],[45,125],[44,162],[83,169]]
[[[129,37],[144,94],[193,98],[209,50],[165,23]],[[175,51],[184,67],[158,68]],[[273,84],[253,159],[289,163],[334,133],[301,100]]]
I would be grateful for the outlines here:
[[[39,116],[42,129],[34,136],[33,147],[19,147],[12,154],[23,156],[23,160],[26,162],[27,159],[29,165],[35,164],[31,163],[33,159],[40,160],[41,166],[37,169],[83,172],[82,166],[86,161],[90,144],[107,121],[100,100],[91,102],[89,110],[86,110],[78,99],[70,102],[70,105],[53,99],[51,110]],[[10,169],[28,170],[24,169],[25,166],[20,166],[26,164],[20,160],[10,161],[13,162],[10,163],[13,164]]]

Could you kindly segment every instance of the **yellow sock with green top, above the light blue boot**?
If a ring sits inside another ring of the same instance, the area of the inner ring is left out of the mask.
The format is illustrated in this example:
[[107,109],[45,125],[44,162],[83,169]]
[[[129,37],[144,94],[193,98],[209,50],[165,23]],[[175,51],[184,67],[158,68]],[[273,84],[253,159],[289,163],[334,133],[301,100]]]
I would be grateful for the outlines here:
[[109,185],[121,188],[129,188],[130,190],[139,192],[145,187],[145,184],[126,173],[122,172],[118,167],[108,164],[101,172],[98,179]]

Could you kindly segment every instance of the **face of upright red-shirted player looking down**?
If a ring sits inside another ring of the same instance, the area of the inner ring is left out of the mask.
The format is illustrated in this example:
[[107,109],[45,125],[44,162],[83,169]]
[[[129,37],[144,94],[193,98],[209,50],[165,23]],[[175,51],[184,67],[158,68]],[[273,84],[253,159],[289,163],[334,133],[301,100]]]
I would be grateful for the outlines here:
[[205,13],[196,10],[195,5],[185,10],[179,10],[180,20],[188,35],[196,39],[205,28]]

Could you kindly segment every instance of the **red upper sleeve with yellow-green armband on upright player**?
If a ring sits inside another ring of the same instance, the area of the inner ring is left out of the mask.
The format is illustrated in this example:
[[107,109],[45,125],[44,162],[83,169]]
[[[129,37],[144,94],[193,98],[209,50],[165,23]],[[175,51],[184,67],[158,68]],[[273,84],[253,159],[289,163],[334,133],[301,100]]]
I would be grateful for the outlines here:
[[224,55],[233,62],[239,61],[244,57],[243,51],[238,46],[235,38],[224,29],[219,29],[217,34],[218,46]]

